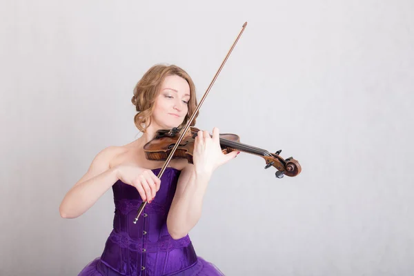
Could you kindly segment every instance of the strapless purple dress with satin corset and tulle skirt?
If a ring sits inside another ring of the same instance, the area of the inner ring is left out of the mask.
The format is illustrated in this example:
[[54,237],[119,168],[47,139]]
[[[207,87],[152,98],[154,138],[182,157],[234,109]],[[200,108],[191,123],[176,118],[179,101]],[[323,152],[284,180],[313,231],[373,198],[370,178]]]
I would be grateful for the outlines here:
[[[152,171],[157,175],[160,170]],[[80,276],[224,275],[196,255],[188,235],[172,239],[168,233],[167,215],[179,174],[180,170],[166,168],[155,199],[146,204],[137,224],[133,221],[142,202],[137,189],[120,180],[115,182],[113,230],[102,255],[85,266]]]

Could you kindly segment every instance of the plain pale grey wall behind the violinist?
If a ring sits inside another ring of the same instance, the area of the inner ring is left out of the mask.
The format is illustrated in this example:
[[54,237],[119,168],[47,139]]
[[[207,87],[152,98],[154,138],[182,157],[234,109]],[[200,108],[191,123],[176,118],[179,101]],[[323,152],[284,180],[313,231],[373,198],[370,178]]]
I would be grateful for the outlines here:
[[137,139],[132,89],[155,63],[197,126],[295,157],[241,154],[190,232],[226,275],[414,275],[413,1],[2,1],[0,275],[77,275],[112,229],[112,190],[59,204],[99,150]]

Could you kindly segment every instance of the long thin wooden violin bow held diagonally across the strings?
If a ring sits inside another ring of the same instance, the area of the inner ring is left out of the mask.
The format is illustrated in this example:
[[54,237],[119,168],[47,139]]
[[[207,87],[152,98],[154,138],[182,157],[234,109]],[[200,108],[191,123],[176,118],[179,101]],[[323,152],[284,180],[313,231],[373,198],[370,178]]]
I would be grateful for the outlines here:
[[[206,92],[204,92],[204,95],[201,98],[201,101],[199,102],[199,104],[197,105],[197,108],[195,108],[195,111],[193,112],[193,115],[191,115],[190,119],[188,120],[188,122],[186,124],[186,127],[181,132],[181,135],[179,136],[179,139],[177,140],[177,143],[175,143],[174,148],[172,148],[172,150],[170,152],[170,155],[168,155],[168,158],[166,159],[166,161],[164,163],[164,166],[162,166],[161,170],[159,171],[159,173],[157,175],[158,179],[161,179],[161,176],[164,174],[164,170],[166,170],[168,164],[170,163],[170,160],[172,159],[172,156],[174,155],[175,150],[177,150],[179,144],[181,143],[182,139],[186,135],[186,133],[188,131],[188,128],[190,128],[191,122],[194,120],[195,115],[197,114],[197,112],[200,109],[201,105],[204,103],[204,100],[206,99],[206,97],[208,95],[208,92],[210,92],[210,89],[213,86],[213,83],[215,83],[215,80],[217,79],[219,73],[221,72],[221,69],[223,69],[223,67],[224,67],[224,63],[226,63],[228,57],[230,56],[230,53],[235,48],[235,46],[237,44],[237,41],[239,41],[239,38],[242,36],[242,33],[244,32],[244,29],[246,28],[246,26],[247,26],[247,21],[243,24],[242,30],[240,30],[239,35],[237,35],[237,38],[236,38],[235,42],[231,46],[230,50],[228,50],[228,53],[227,53],[226,57],[224,58],[224,61],[221,62],[221,66],[219,67],[219,70],[217,70],[217,72],[215,73],[215,76],[214,76],[213,80],[210,82],[210,86],[208,86]],[[135,217],[135,219],[134,219],[134,224],[137,224],[139,216],[141,215],[142,210],[144,210],[144,207],[146,206],[146,204],[147,204],[147,201],[142,201],[141,206],[139,206],[139,208],[138,208],[137,217]]]

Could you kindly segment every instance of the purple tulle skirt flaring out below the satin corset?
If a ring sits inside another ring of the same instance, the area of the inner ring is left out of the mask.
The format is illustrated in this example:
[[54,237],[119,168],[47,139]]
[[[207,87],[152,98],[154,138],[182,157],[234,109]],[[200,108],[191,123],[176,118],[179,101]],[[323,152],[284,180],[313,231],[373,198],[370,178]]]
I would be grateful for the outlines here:
[[[85,266],[78,276],[121,276],[121,274],[103,264],[100,257],[97,257]],[[168,275],[148,276],[224,276],[224,274],[214,264],[207,262],[202,257],[197,257],[197,262],[185,270]]]

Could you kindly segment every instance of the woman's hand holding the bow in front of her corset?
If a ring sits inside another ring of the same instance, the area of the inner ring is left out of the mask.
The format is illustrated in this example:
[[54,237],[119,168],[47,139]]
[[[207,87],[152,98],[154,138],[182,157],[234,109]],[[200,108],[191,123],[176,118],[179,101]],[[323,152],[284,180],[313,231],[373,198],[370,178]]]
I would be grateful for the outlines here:
[[141,199],[148,203],[154,199],[161,184],[161,180],[152,170],[132,165],[117,166],[117,177],[125,184],[137,188]]

